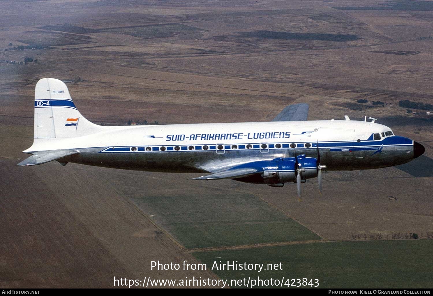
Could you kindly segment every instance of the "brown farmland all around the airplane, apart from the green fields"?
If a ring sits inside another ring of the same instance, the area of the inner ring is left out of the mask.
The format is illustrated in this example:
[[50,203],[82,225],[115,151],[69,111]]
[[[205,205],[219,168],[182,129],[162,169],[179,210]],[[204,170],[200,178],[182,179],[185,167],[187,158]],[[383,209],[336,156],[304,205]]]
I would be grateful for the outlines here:
[[[398,106],[399,100],[433,102],[433,9],[402,1],[381,10],[381,3],[3,1],[1,286],[110,287],[114,275],[216,278],[150,270],[152,260],[197,260],[132,203],[143,194],[248,193],[329,241],[432,232],[432,177],[395,167],[327,173],[323,196],[317,180],[309,180],[299,203],[293,184],[202,183],[186,181],[193,175],[57,162],[15,165],[32,142],[33,92],[43,77],[77,81],[68,83],[74,103],[97,124],[267,121],[304,102],[311,120],[377,118],[433,158],[433,116]],[[52,5],[58,13],[47,13]],[[9,43],[52,48],[17,50]],[[38,62],[6,63],[25,57]],[[369,103],[356,103],[361,98]],[[375,100],[386,104],[372,105]]]

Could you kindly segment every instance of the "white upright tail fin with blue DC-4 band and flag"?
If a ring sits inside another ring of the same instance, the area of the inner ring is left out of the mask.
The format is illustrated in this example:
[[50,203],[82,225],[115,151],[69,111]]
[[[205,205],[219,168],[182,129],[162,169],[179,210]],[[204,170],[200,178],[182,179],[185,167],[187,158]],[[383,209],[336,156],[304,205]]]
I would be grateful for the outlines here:
[[35,139],[71,138],[97,132],[103,127],[81,115],[61,80],[43,78],[35,87]]

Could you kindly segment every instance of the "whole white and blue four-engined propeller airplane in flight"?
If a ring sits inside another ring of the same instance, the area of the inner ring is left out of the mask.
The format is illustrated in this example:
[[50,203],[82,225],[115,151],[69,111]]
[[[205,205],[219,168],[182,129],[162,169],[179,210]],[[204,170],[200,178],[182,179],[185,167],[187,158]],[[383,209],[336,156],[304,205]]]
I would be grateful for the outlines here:
[[33,154],[18,165],[58,161],[138,171],[201,173],[283,187],[346,171],[404,164],[423,145],[364,121],[309,120],[308,105],[285,107],[271,122],[101,126],[81,115],[68,87],[43,78],[35,89]]

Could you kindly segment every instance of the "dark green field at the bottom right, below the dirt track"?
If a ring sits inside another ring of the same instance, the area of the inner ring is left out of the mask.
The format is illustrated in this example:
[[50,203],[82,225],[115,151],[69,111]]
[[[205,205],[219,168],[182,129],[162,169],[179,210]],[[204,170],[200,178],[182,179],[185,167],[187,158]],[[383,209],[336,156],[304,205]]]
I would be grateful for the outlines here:
[[433,240],[318,242],[193,253],[206,263],[283,263],[283,270],[212,270],[222,279],[318,279],[319,288],[432,288]]

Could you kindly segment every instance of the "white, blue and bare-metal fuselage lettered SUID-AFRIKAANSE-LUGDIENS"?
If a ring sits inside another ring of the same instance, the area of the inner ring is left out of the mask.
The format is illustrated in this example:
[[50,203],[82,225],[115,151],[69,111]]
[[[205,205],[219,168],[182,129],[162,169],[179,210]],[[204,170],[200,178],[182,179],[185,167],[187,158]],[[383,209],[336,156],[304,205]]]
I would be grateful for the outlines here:
[[385,125],[353,120],[113,126],[81,137],[35,139],[25,152],[73,149],[79,154],[68,161],[82,164],[217,172],[250,161],[317,157],[319,146],[328,170],[356,170],[414,158],[414,142],[390,132]]

